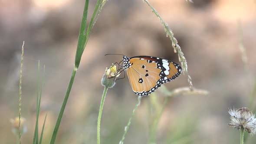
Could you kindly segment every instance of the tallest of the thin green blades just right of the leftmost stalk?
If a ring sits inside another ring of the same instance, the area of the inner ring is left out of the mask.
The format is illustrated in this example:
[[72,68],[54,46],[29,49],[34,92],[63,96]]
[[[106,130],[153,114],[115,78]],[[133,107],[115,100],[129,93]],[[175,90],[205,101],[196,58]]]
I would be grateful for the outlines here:
[[38,71],[37,71],[37,96],[36,96],[36,126],[33,137],[33,144],[38,144],[38,109],[39,109],[39,74],[40,74],[40,61],[38,61]]

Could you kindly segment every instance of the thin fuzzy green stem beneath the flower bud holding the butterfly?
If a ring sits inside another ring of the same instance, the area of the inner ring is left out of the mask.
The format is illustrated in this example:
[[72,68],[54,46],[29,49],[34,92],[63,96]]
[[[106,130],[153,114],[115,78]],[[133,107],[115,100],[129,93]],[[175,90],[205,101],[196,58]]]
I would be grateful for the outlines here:
[[108,91],[108,87],[105,86],[103,94],[102,94],[102,102],[101,105],[99,107],[99,112],[98,112],[98,123],[97,123],[97,144],[100,144],[100,120],[102,118],[102,109],[103,109],[103,105],[104,105],[104,101],[105,101],[105,96],[106,93]]

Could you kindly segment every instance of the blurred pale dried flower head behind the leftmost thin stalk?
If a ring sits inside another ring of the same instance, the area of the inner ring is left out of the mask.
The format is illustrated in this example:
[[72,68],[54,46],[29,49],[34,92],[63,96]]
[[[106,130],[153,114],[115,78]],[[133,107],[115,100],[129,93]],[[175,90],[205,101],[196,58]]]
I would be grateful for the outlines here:
[[[19,117],[10,119],[10,122],[12,123],[13,133],[19,135]],[[21,130],[21,134],[25,134],[27,131],[26,119],[23,117],[20,118],[20,130]]]

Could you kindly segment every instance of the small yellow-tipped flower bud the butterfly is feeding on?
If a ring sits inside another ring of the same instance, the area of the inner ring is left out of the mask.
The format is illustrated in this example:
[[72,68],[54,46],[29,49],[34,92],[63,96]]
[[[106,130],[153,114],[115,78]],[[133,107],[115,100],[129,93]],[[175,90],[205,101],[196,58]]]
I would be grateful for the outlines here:
[[120,75],[116,71],[116,66],[112,65],[110,68],[106,68],[105,74],[102,77],[102,85],[112,88],[115,85],[116,78]]

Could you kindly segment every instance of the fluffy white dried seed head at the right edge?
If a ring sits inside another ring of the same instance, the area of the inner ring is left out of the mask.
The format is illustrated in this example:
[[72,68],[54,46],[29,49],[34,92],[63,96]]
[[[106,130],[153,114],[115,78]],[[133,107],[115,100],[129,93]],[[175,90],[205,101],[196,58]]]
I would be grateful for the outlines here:
[[245,131],[252,135],[256,133],[256,118],[249,108],[239,108],[229,110],[231,121],[228,124],[238,130],[243,127]]

